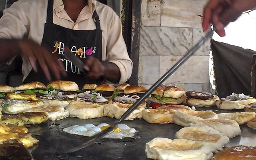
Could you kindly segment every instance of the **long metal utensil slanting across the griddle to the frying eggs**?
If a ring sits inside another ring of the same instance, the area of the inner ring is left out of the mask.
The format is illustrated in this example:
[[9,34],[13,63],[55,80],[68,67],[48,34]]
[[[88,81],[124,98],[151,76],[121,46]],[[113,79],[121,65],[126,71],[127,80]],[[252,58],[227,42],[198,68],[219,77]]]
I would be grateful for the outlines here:
[[113,132],[117,126],[118,123],[120,123],[122,120],[124,120],[127,116],[130,115],[158,86],[160,86],[170,75],[172,75],[192,54],[194,54],[206,40],[208,40],[210,37],[212,37],[213,32],[215,29],[211,29],[210,32],[206,34],[193,48],[191,48],[186,55],[181,58],[164,76],[162,76],[153,86],[150,87],[150,89],[142,96],[140,99],[138,99],[118,120],[112,124],[112,126],[108,127],[106,130],[103,130],[102,132],[99,132],[98,134],[95,134],[85,143],[79,144],[78,146],[71,148],[69,150],[66,150],[66,153],[75,152],[77,150],[80,150],[82,148],[85,148],[87,146],[90,146],[91,144],[97,142],[104,136],[110,134]]

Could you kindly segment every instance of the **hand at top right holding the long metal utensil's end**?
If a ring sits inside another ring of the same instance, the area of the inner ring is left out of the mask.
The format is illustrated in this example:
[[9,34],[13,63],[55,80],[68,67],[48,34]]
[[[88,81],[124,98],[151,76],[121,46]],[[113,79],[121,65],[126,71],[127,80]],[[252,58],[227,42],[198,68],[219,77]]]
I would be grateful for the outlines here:
[[224,27],[234,22],[242,12],[256,7],[256,0],[210,0],[204,7],[203,30],[212,23],[220,36],[225,36]]

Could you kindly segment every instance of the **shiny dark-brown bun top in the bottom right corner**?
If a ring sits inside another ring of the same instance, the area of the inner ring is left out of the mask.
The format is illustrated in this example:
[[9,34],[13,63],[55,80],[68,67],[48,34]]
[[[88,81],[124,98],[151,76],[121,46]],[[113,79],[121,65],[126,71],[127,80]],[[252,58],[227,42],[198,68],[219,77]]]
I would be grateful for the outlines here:
[[212,160],[255,160],[256,147],[232,146],[215,154]]

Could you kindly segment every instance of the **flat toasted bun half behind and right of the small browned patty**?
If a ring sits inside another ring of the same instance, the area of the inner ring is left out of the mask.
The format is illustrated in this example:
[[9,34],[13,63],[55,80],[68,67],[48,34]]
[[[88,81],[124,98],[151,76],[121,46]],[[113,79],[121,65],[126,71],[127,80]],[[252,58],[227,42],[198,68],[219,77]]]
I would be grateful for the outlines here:
[[64,109],[62,106],[39,106],[33,107],[24,112],[45,112],[48,115],[48,120],[62,120],[69,116],[67,110]]

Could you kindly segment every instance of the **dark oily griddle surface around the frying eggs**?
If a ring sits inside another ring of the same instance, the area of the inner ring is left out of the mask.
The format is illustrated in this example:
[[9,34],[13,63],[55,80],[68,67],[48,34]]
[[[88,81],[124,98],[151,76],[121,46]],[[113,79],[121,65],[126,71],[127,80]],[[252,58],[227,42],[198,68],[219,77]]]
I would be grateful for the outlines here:
[[[212,110],[216,113],[243,112],[243,110],[219,110],[216,107],[196,108],[196,110]],[[78,118],[66,118],[59,121],[48,121],[29,128],[33,137],[39,140],[34,147],[29,148],[35,160],[147,160],[145,144],[156,137],[174,139],[174,135],[182,126],[176,124],[149,124],[143,119],[123,121],[122,123],[138,130],[135,138],[106,139],[72,154],[60,153],[61,149],[70,148],[78,142],[86,142],[89,138],[76,136],[63,132],[63,128],[72,125],[84,125],[92,123],[112,124],[115,119],[109,117],[82,120]],[[240,126],[241,136],[230,139],[227,145],[256,146],[256,131],[246,125]]]

